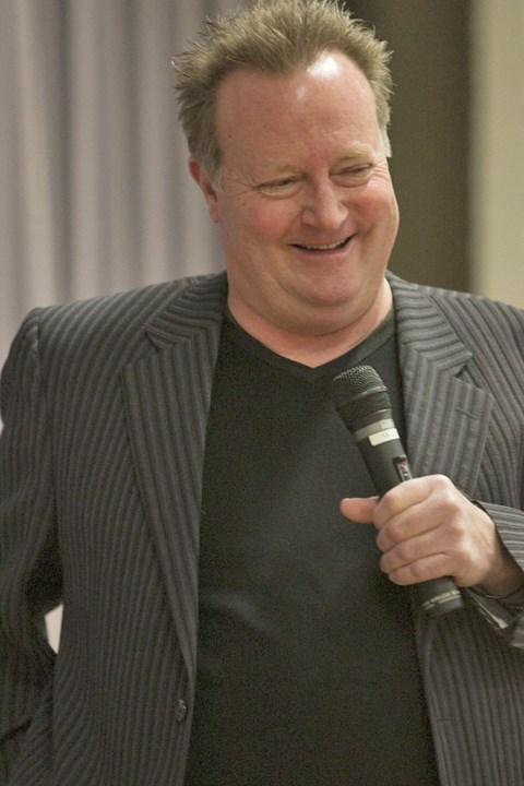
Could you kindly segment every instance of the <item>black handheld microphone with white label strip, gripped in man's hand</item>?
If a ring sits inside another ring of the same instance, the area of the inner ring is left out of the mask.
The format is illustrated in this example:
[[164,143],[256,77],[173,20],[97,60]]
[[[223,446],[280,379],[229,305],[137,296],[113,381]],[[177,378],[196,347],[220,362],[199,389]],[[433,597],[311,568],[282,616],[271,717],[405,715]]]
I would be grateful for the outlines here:
[[[371,366],[355,366],[333,379],[335,406],[353,434],[379,496],[413,475],[391,410],[388,389]],[[464,607],[450,576],[415,585],[422,609],[439,617]]]

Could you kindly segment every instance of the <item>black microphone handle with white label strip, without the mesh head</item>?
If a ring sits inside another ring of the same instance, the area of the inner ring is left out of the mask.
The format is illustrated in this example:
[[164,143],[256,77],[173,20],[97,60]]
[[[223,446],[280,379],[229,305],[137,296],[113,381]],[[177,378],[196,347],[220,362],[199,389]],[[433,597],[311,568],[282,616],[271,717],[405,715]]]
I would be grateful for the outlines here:
[[[413,477],[391,410],[362,419],[353,436],[379,496]],[[429,617],[464,608],[464,599],[451,576],[420,582],[414,590]]]

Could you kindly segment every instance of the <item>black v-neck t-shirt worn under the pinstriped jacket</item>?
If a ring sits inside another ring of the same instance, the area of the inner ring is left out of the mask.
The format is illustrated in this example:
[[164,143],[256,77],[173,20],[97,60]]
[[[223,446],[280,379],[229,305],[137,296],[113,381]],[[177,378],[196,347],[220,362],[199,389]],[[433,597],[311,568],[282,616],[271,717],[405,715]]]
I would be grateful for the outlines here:
[[224,321],[207,425],[189,786],[436,786],[409,593],[381,573],[374,493],[332,379],[361,362],[403,430],[394,318],[319,368]]

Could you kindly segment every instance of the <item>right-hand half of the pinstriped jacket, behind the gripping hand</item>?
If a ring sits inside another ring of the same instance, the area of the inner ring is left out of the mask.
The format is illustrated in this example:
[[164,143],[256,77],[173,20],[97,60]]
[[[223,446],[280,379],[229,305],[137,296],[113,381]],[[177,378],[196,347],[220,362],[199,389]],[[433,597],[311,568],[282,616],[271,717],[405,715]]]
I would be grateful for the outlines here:
[[[449,475],[490,503],[522,564],[524,314],[404,282],[392,286],[414,471]],[[456,616],[419,620],[441,781],[523,784],[524,653],[507,644],[523,645],[522,621],[504,642],[469,599]]]

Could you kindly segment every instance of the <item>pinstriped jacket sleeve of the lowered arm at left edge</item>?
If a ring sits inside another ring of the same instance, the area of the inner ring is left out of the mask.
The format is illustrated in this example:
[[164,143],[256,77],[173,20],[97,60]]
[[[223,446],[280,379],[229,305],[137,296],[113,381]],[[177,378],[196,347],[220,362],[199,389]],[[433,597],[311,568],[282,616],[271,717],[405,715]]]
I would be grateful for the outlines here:
[[15,337],[0,383],[0,782],[48,704],[55,653],[44,615],[60,602],[38,312]]

